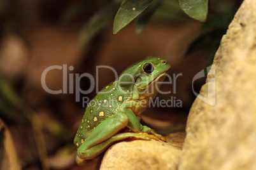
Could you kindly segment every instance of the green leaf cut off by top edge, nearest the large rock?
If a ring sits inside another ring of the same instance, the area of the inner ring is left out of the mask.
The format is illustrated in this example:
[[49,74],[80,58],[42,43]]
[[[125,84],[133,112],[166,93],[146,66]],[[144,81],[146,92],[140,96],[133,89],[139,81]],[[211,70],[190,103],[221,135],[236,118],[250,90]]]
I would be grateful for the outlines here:
[[204,22],[208,13],[208,0],[179,0],[181,9],[191,18]]

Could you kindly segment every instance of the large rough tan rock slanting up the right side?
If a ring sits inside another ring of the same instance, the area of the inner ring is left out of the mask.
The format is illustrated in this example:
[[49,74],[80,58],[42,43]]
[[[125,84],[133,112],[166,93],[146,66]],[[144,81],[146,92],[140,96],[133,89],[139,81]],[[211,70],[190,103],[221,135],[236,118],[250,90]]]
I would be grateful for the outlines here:
[[201,88],[207,102],[190,110],[179,170],[256,169],[255,57],[256,1],[245,0]]

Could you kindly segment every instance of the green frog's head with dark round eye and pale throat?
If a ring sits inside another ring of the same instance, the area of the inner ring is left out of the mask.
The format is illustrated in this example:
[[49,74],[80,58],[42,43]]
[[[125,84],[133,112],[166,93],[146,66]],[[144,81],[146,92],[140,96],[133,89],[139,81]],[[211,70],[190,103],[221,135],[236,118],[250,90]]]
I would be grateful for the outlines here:
[[157,89],[160,88],[160,81],[164,80],[170,68],[167,60],[158,56],[148,56],[120,75],[120,87],[132,91],[133,100],[141,100],[150,96],[154,98],[158,93]]

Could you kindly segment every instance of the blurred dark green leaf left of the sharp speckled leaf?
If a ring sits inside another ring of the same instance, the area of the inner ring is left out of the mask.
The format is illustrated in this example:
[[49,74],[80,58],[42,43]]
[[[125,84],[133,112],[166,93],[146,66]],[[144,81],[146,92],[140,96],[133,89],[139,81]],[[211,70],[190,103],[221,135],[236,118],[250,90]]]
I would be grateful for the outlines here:
[[90,18],[89,22],[83,27],[82,34],[80,36],[82,48],[86,48],[92,38],[111,23],[117,9],[117,4],[111,4]]

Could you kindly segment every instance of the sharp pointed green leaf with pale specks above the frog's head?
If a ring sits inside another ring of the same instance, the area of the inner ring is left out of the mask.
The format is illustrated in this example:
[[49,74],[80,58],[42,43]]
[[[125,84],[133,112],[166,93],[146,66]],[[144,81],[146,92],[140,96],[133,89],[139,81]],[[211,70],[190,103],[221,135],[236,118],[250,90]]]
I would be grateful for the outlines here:
[[140,13],[142,13],[155,0],[127,0],[122,4],[115,16],[113,33],[117,34],[128,23],[132,22]]

